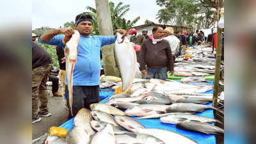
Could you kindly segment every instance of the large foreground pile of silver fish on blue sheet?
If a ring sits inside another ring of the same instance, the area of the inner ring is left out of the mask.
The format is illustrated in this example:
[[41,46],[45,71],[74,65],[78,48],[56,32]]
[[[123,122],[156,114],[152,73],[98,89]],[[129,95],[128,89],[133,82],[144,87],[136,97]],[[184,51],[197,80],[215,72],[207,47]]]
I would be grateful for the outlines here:
[[162,123],[187,131],[223,133],[211,124],[221,124],[219,120],[194,115],[206,109],[220,111],[205,105],[212,100],[212,95],[201,93],[207,90],[175,81],[134,79],[130,93],[113,95],[105,104],[91,104],[92,111],[81,109],[74,118],[75,127],[65,138],[47,136],[45,144],[196,143],[176,132],[147,129],[138,120],[159,118]]

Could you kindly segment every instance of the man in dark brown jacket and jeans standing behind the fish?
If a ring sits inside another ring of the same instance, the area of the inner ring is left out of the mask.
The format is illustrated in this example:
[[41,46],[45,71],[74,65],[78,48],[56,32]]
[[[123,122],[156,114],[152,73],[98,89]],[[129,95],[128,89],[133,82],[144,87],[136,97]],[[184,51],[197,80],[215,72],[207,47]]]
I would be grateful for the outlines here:
[[[145,40],[140,51],[140,69],[147,79],[156,78],[165,80],[167,72],[173,74],[172,50],[168,41],[163,40],[164,29],[154,27],[152,40]],[[147,68],[146,68],[147,65]]]

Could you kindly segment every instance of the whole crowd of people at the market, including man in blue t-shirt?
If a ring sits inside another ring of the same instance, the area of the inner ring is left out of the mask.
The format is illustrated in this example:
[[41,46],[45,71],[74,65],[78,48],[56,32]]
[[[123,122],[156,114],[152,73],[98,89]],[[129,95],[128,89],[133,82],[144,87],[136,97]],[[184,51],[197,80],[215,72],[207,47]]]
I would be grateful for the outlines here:
[[[79,109],[89,108],[90,104],[99,102],[100,49],[104,45],[114,44],[116,35],[91,35],[93,17],[83,13],[76,16],[74,29],[79,31],[81,35],[77,63],[73,73],[72,112],[76,115]],[[47,79],[52,81],[52,94],[54,96],[62,96],[64,99],[63,95],[65,93],[68,100],[67,79],[64,80],[65,63],[62,62],[65,57],[63,52],[65,44],[63,42],[68,42],[74,34],[74,29],[53,29],[43,33],[38,38],[35,38],[36,35],[32,35],[32,123],[39,122],[39,116],[51,116],[47,108]],[[118,29],[117,31],[124,36],[131,35],[131,42],[134,44],[141,73],[146,79],[158,78],[165,80],[168,73],[172,76],[175,58],[184,52],[186,47],[193,47],[205,41],[211,41],[204,36],[203,31],[196,31],[196,33],[182,31],[181,34],[180,31],[174,31],[171,27],[154,27],[151,35],[148,35],[147,29],[143,29],[141,34],[136,29],[129,29],[129,31]],[[35,40],[42,44],[57,46],[59,72],[52,74],[52,70],[56,71],[56,68],[52,69],[52,58],[44,48],[33,42]],[[62,84],[61,93],[58,93],[58,87],[56,87],[59,79]],[[38,100],[41,101],[39,111]],[[69,111],[69,119],[72,118],[72,115],[68,103],[65,101]]]

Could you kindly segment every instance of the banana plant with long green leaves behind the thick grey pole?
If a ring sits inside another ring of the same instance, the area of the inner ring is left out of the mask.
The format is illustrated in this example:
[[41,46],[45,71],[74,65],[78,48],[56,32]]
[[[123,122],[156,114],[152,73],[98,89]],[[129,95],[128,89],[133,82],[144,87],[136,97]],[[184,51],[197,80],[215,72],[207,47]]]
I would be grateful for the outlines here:
[[[136,17],[134,20],[126,20],[124,15],[130,10],[130,5],[122,5],[123,3],[120,2],[115,6],[115,3],[109,2],[109,10],[111,13],[111,20],[113,25],[113,31],[116,29],[129,29],[140,20],[140,17]],[[97,35],[99,31],[97,29],[97,11],[95,8],[90,6],[86,7],[87,10],[90,12],[84,12],[93,16],[93,22],[95,23],[93,26],[93,32]]]

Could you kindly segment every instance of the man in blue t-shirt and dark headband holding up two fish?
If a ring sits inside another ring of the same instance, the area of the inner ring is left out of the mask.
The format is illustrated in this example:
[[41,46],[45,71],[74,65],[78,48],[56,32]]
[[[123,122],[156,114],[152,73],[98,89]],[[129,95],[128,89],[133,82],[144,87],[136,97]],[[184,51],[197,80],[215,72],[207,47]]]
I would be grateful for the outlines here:
[[[100,84],[100,48],[104,45],[115,43],[116,36],[90,35],[93,29],[93,19],[91,15],[83,13],[76,16],[74,28],[80,33],[77,63],[73,72],[72,112],[74,114],[73,116],[76,116],[81,108],[89,108],[90,104],[98,102]],[[127,32],[124,29],[118,29],[117,31],[122,35],[127,35]],[[63,41],[68,42],[73,34],[74,29],[72,28],[54,29],[41,35],[40,38],[38,38],[38,41],[44,44],[58,45],[64,48],[65,44],[63,44]],[[65,80],[65,84],[65,93],[70,112],[67,79]],[[72,118],[71,113],[68,118]]]

